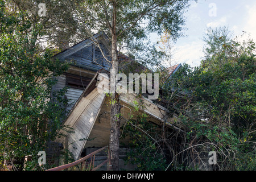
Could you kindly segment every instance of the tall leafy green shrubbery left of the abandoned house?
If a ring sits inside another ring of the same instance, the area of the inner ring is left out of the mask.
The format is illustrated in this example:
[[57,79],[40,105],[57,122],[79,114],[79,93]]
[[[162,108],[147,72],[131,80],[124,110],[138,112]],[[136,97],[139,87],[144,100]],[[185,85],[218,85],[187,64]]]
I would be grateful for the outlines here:
[[[36,169],[38,152],[46,150],[63,118],[65,90],[51,88],[68,65],[53,61],[49,49],[42,51],[42,24],[32,23],[25,11],[9,11],[4,1],[0,9],[0,162]],[[25,156],[31,160],[24,166]]]

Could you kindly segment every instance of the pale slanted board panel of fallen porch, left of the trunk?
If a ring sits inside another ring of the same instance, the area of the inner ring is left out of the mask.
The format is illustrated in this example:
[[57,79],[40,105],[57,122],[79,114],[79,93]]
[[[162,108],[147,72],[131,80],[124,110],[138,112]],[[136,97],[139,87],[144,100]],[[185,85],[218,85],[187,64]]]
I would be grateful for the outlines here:
[[[72,130],[71,132],[61,130],[60,133],[67,135],[68,148],[75,160],[79,158],[84,148],[104,99],[105,94],[95,88],[88,96],[81,98],[64,123]],[[57,141],[63,142],[64,138],[57,139]]]

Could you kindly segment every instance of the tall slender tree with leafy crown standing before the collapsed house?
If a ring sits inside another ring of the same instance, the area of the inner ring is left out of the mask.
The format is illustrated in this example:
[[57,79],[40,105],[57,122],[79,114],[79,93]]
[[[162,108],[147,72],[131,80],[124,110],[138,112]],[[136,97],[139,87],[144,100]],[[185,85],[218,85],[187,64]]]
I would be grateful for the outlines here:
[[[156,63],[161,53],[148,44],[148,35],[171,32],[174,40],[182,35],[185,18],[183,13],[189,0],[85,0],[79,1],[75,15],[82,26],[81,32],[93,35],[94,31],[104,31],[110,38],[111,78],[110,87],[115,90],[115,76],[119,69],[122,52],[142,63]],[[119,161],[119,94],[112,92],[110,163],[118,170]]]

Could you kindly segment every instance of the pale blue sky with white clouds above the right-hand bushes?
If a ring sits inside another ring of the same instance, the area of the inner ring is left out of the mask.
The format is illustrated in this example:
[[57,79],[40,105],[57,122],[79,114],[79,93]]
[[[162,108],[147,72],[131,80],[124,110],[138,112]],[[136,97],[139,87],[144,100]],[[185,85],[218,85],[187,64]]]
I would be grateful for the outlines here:
[[192,2],[186,17],[185,37],[174,44],[171,64],[187,63],[191,67],[200,65],[203,53],[203,36],[207,27],[226,26],[233,34],[243,39],[249,36],[256,42],[255,0],[198,0]]

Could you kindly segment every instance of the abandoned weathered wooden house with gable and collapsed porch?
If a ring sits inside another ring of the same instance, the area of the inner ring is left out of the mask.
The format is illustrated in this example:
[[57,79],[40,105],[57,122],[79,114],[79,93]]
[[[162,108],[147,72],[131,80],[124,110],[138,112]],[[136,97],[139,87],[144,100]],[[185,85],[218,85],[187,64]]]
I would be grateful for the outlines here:
[[[100,32],[93,38],[77,43],[54,56],[61,61],[73,61],[68,71],[57,77],[57,84],[53,86],[52,90],[68,86],[65,95],[69,100],[69,105],[66,107],[68,115],[63,121],[63,126],[72,128],[72,132],[60,130],[59,133],[64,134],[65,137],[56,138],[55,142],[62,143],[65,148],[68,148],[74,160],[109,144],[110,99],[103,89],[97,87],[99,80],[109,79],[106,74],[103,74],[109,71],[109,65],[106,63],[106,59],[109,57],[102,56],[101,53],[102,51],[108,55],[108,49],[105,46],[108,43],[107,40],[106,35]],[[95,41],[101,45],[101,50],[95,46]],[[170,75],[179,67],[181,67],[180,64],[170,68]],[[129,119],[130,107],[135,100],[143,101],[145,107],[139,112],[148,115],[148,122],[156,125],[161,125],[164,122],[166,109],[163,106],[154,104],[145,97],[137,98],[135,94],[121,94],[123,121]],[[137,115],[134,114],[133,117],[137,117]],[[169,119],[166,125],[170,129],[180,130],[179,127],[172,124],[172,119]],[[127,143],[127,141],[123,139],[122,143]],[[121,151],[123,150],[121,149]],[[102,157],[99,157],[98,160],[102,160]],[[125,168],[122,162],[120,165],[120,168]]]

